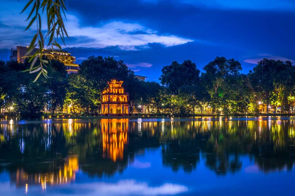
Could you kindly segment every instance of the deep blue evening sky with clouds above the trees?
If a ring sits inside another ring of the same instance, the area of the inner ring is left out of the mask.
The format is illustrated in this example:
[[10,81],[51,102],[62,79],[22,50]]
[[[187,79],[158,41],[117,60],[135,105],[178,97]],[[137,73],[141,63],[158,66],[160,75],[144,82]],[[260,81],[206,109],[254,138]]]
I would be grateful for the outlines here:
[[[9,59],[14,43],[30,43],[35,29],[24,32],[25,3],[0,0],[0,59]],[[150,81],[158,81],[163,66],[187,59],[201,70],[216,56],[235,58],[243,73],[262,58],[295,63],[292,0],[71,0],[66,6],[66,49],[77,63],[115,56]]]

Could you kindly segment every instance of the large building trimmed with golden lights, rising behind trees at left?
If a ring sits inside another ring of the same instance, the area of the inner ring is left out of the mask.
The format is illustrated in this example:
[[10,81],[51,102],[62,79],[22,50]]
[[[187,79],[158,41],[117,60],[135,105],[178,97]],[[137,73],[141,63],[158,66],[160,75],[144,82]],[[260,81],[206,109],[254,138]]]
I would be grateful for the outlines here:
[[[15,60],[20,63],[23,63],[24,60],[30,56],[32,56],[38,48],[35,48],[30,54],[25,56],[27,53],[28,46],[17,46],[16,48],[11,48],[10,50],[10,60]],[[79,70],[79,65],[75,64],[76,57],[73,56],[73,53],[70,53],[65,50],[55,49],[55,48],[47,48],[43,49],[43,54],[49,59],[55,59],[65,64],[65,68],[69,74],[77,73]]]

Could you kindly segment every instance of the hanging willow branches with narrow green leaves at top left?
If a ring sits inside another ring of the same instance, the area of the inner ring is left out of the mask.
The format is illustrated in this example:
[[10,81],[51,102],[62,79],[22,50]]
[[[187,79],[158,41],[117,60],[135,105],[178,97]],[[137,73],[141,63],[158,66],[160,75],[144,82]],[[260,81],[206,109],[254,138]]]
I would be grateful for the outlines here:
[[[61,46],[58,43],[58,38],[60,38],[65,44],[65,36],[68,36],[63,23],[63,16],[65,17],[64,11],[66,8],[63,0],[30,0],[22,10],[22,13],[30,6],[32,6],[32,9],[27,17],[27,21],[30,19],[30,22],[25,30],[29,29],[32,24],[36,23],[37,32],[33,36],[28,51],[24,56],[30,55],[34,48],[38,47],[38,50],[30,57],[29,62],[31,62],[31,65],[26,70],[30,71],[30,73],[38,72],[34,80],[34,82],[36,82],[41,74],[45,78],[49,78],[47,75],[48,71],[45,69],[49,61],[48,59],[42,58],[43,48],[45,48],[44,40],[47,40],[47,47],[52,45],[61,49]],[[41,15],[43,13],[46,13],[47,19],[47,33],[45,37],[43,36],[41,28]],[[37,60],[39,60],[39,63],[37,63]]]

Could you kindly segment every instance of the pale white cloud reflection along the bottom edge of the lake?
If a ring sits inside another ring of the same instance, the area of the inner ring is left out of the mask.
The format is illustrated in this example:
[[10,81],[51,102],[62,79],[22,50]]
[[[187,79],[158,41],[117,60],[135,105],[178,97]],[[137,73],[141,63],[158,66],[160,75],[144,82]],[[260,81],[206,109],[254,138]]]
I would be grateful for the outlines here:
[[[4,188],[7,183],[0,183],[0,187]],[[9,186],[8,186],[9,187]],[[30,192],[37,192],[38,186],[30,186]],[[6,190],[4,188],[4,190]],[[11,195],[8,189],[6,195]],[[40,191],[40,190],[39,190]],[[76,183],[75,185],[63,185],[48,187],[46,193],[48,195],[63,195],[65,192],[70,195],[145,195],[145,196],[157,196],[157,195],[176,195],[189,191],[189,188],[183,185],[165,183],[160,186],[150,186],[146,182],[137,182],[135,180],[120,180],[118,182],[89,182],[89,183]]]

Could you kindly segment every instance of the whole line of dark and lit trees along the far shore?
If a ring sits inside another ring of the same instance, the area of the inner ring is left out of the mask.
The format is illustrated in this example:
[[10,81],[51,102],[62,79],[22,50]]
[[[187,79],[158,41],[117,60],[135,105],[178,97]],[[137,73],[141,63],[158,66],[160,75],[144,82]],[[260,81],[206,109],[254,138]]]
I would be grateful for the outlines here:
[[267,112],[270,105],[289,112],[295,101],[295,67],[290,61],[263,59],[247,75],[240,73],[241,64],[235,59],[216,57],[202,72],[190,60],[174,61],[163,67],[160,83],[139,81],[113,57],[90,56],[78,74],[71,75],[63,63],[51,60],[47,68],[51,77],[37,82],[34,74],[23,72],[29,67],[27,61],[0,61],[0,108],[11,108],[11,115],[53,115],[68,106],[69,113],[98,115],[101,92],[111,79],[124,81],[130,108],[135,108],[130,113],[254,114],[261,104]]

